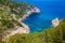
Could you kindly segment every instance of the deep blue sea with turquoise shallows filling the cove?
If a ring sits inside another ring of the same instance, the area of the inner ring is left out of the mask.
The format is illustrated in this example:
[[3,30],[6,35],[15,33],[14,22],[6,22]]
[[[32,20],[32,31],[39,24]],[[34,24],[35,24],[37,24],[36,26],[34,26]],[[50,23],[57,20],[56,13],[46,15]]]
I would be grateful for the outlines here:
[[55,17],[60,19],[65,17],[65,1],[64,0],[15,0],[27,2],[40,9],[39,14],[31,14],[23,20],[29,26],[30,32],[38,32],[44,28],[51,27],[51,20]]

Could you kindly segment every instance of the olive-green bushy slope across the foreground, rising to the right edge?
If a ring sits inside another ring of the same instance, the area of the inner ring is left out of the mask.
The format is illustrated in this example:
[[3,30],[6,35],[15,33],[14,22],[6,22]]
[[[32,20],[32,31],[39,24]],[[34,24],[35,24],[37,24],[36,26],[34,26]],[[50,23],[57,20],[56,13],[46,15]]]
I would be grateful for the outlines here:
[[32,34],[15,34],[8,43],[65,43],[65,18],[55,28],[44,29]]

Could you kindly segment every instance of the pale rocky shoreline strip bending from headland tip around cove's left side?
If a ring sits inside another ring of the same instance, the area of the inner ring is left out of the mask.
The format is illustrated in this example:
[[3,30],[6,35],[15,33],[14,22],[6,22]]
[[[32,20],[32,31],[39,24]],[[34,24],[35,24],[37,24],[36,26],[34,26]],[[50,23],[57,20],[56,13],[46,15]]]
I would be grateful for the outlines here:
[[24,29],[26,29],[26,27],[27,27],[27,30],[26,30],[27,33],[29,33],[29,27],[27,25],[25,25],[24,23],[22,23],[22,20],[25,19],[27,16],[29,16],[32,13],[40,13],[40,10],[37,9],[36,6],[28,6],[26,9],[26,13],[24,14],[24,16],[21,17],[20,19],[17,19],[17,22],[20,22],[24,26]]

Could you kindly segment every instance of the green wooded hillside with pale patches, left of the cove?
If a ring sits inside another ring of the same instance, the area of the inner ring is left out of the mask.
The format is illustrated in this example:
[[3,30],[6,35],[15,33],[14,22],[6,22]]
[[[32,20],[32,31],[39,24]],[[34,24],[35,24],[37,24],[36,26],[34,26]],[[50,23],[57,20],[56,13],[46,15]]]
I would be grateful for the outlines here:
[[[13,2],[12,0],[0,0],[0,33],[4,30],[12,29],[16,26],[22,26],[17,22],[29,6],[27,3]],[[15,16],[14,16],[14,15]],[[13,18],[14,16],[14,18]]]

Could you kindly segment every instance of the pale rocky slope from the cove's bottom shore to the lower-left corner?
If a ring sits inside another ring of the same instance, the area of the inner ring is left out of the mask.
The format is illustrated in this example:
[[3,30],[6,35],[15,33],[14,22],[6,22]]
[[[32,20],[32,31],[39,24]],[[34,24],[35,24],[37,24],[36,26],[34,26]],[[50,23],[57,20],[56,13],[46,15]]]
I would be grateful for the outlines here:
[[22,25],[23,25],[23,27],[16,26],[16,29],[10,29],[10,30],[4,31],[2,33],[3,34],[2,41],[4,41],[4,42],[8,41],[9,37],[14,35],[16,33],[18,33],[18,34],[29,33],[29,27],[23,23],[22,23]]

